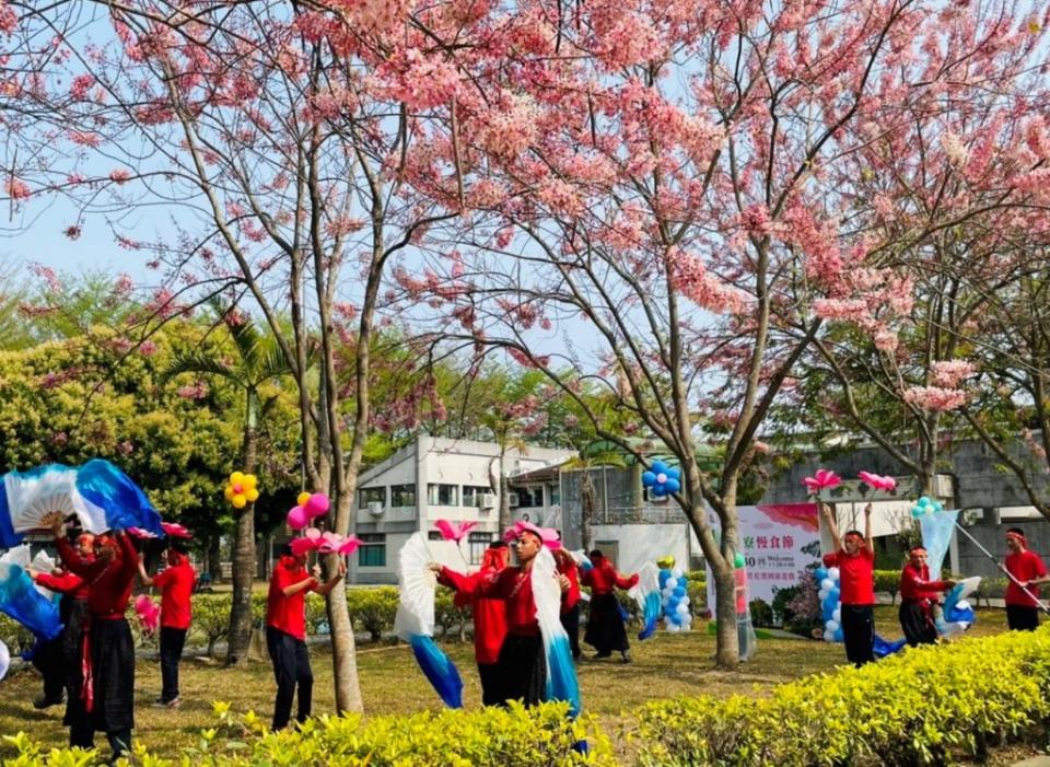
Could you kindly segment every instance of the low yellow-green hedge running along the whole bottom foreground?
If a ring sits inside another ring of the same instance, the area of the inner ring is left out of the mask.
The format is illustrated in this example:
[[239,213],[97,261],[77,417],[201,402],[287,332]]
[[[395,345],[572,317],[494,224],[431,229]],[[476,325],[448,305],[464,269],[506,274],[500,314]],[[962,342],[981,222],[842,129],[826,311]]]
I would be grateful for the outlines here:
[[[908,650],[864,669],[841,667],[777,687],[769,698],[710,696],[648,704],[617,719],[637,767],[719,765],[942,765],[982,760],[990,745],[1045,736],[1050,718],[1050,628]],[[586,701],[584,701],[586,702]],[[139,751],[137,764],[615,765],[596,721],[571,722],[563,704],[409,717],[320,717],[269,733],[217,704],[219,727],[175,759]],[[573,745],[587,740],[591,754]],[[8,736],[5,765],[90,764],[90,753]]]

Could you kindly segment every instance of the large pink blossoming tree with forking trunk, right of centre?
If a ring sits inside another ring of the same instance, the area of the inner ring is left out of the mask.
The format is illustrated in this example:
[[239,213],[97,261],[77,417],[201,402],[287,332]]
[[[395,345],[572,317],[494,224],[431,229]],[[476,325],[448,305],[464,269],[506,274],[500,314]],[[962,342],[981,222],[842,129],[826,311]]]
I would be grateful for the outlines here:
[[[452,94],[468,225],[401,286],[570,396],[578,371],[604,380],[680,464],[676,500],[732,615],[742,472],[785,382],[826,317],[863,307],[874,336],[886,319],[873,306],[912,302],[894,240],[868,225],[871,144],[940,130],[950,98],[998,82],[1041,27],[900,1],[515,11],[486,86]],[[698,448],[715,429],[727,435],[704,470]],[[737,661],[723,621],[718,662]]]

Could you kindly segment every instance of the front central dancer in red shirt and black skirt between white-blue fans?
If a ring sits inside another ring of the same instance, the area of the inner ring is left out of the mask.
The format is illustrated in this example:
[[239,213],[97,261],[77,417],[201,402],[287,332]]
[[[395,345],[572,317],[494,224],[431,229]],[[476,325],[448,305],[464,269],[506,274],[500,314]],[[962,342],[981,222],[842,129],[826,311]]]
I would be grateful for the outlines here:
[[[544,542],[534,530],[517,531],[514,542],[517,567],[508,567],[471,581],[468,576],[447,567],[432,566],[441,581],[456,591],[503,600],[506,604],[506,637],[500,648],[495,673],[495,701],[500,706],[511,700],[521,700],[526,707],[535,706],[544,699],[547,687],[547,661],[536,619],[532,579],[533,561]],[[559,577],[559,581],[564,593],[569,590],[569,581],[564,576]]]

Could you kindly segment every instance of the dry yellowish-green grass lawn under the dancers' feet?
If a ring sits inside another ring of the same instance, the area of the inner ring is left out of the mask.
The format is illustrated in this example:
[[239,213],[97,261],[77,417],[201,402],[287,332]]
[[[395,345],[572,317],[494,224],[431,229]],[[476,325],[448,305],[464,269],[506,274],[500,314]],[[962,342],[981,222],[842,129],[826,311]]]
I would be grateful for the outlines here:
[[[896,608],[876,609],[876,630],[886,639],[901,636]],[[1005,630],[1005,615],[1000,609],[981,609],[972,635],[987,636]],[[625,713],[646,700],[682,695],[733,693],[761,696],[777,684],[806,674],[830,671],[844,663],[841,644],[804,639],[760,640],[755,658],[737,672],[714,667],[714,637],[707,626],[688,635],[657,634],[644,642],[632,642],[634,663],[622,665],[618,660],[584,661],[579,676],[584,709],[598,714],[615,732],[625,721]],[[480,688],[470,644],[445,646],[464,677],[464,705],[480,705]],[[332,710],[331,662],[325,648],[312,649],[314,670],[314,713]],[[370,714],[411,713],[436,710],[441,704],[416,665],[405,646],[359,647],[358,665],[365,711]],[[167,756],[195,742],[197,733],[213,723],[211,702],[225,700],[234,710],[255,710],[269,718],[273,702],[273,677],[268,663],[254,663],[246,669],[224,669],[219,664],[187,659],[183,662],[179,709],[150,707],[160,694],[158,663],[141,661],[136,670],[137,740]],[[36,711],[32,700],[40,692],[39,677],[27,671],[0,682],[0,734],[30,733],[45,744],[63,745],[67,731],[61,724],[60,707]],[[97,737],[104,748],[104,737]],[[0,743],[0,758],[10,756],[9,745]]]

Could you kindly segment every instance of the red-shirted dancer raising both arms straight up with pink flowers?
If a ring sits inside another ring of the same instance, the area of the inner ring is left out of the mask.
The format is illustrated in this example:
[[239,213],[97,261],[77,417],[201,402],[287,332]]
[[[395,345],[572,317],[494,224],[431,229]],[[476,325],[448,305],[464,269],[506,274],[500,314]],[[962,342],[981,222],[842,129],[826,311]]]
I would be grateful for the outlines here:
[[845,658],[855,666],[875,660],[875,542],[872,538],[872,504],[864,507],[864,535],[851,530],[839,538],[835,514],[827,503],[820,513],[831,533],[832,554],[824,557],[825,567],[839,568],[842,602],[842,637]]

